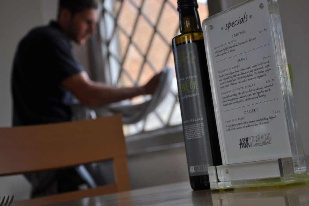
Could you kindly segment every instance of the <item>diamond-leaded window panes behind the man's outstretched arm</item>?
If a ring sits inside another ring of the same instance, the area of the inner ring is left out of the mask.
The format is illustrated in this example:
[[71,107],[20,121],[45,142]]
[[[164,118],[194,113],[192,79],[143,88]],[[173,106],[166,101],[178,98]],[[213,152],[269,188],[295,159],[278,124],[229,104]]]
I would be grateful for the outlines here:
[[[201,21],[208,17],[199,1]],[[141,86],[164,67],[175,68],[171,40],[179,33],[177,0],[104,0],[99,24],[104,77],[116,86]],[[141,103],[145,97],[131,101]],[[176,78],[167,97],[145,120],[125,125],[125,135],[181,124]]]

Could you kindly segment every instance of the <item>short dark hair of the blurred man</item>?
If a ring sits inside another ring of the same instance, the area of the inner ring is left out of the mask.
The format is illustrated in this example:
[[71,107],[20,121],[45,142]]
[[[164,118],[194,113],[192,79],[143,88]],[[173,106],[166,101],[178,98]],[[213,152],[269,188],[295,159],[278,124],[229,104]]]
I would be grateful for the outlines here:
[[74,16],[77,13],[83,12],[87,9],[97,9],[97,0],[59,0],[58,4],[58,18],[62,9],[66,8]]

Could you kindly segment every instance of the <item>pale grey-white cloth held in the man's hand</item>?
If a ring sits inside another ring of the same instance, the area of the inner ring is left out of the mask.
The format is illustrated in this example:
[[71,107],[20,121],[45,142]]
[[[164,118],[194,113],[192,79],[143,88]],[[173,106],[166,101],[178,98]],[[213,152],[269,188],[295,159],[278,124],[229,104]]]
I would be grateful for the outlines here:
[[174,76],[173,74],[173,69],[163,69],[159,79],[159,86],[154,94],[150,99],[140,104],[133,105],[124,100],[103,107],[85,107],[75,103],[72,106],[73,120],[95,119],[96,117],[111,116],[115,114],[122,115],[123,124],[133,124],[145,119],[151,111],[154,111],[155,108],[158,107],[170,91],[170,86]]

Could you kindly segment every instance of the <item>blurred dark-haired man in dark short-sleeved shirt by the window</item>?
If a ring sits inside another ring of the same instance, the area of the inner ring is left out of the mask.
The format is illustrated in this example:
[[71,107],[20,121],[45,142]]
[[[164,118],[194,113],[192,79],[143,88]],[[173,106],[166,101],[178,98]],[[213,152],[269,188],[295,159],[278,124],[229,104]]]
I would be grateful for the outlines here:
[[[104,105],[154,92],[159,75],[145,86],[116,88],[91,81],[74,57],[71,41],[85,44],[95,33],[97,7],[96,0],[59,0],[57,21],[31,30],[20,41],[11,79],[13,126],[70,121],[72,94],[84,105]],[[62,170],[47,178],[29,175],[32,196],[77,189],[74,174]]]

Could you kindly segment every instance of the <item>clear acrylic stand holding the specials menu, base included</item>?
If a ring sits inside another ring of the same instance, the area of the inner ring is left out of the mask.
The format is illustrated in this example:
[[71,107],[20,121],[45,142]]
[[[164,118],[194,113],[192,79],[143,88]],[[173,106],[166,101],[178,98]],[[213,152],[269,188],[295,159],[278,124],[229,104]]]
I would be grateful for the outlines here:
[[211,189],[308,181],[277,0],[234,6],[203,33],[222,156]]

